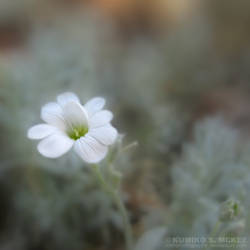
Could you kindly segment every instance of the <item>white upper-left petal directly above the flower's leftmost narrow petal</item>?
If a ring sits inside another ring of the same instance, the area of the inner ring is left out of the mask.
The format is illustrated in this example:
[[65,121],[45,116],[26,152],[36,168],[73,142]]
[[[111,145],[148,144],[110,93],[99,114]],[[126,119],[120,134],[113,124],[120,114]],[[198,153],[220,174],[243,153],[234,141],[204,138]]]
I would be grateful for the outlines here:
[[59,129],[65,130],[62,108],[56,102],[50,102],[41,109],[41,118]]

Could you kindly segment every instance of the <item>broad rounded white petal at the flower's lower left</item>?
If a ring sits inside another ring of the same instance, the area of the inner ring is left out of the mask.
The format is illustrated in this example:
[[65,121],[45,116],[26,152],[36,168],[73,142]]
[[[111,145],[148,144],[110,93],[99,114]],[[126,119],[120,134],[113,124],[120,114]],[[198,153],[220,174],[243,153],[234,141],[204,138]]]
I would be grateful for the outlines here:
[[37,146],[40,154],[48,158],[57,158],[68,152],[74,141],[62,133],[55,133],[43,139]]

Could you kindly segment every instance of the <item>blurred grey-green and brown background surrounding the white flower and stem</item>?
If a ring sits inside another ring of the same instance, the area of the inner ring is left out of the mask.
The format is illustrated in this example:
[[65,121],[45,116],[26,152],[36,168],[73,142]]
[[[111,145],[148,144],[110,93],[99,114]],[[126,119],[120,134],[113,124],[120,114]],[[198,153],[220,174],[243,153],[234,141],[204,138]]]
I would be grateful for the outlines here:
[[73,152],[45,159],[26,137],[64,91],[105,97],[123,144],[138,142],[115,162],[136,250],[171,249],[147,248],[161,228],[209,236],[228,199],[241,213],[221,233],[248,236],[249,11],[245,0],[0,0],[0,249],[125,249],[88,167]]

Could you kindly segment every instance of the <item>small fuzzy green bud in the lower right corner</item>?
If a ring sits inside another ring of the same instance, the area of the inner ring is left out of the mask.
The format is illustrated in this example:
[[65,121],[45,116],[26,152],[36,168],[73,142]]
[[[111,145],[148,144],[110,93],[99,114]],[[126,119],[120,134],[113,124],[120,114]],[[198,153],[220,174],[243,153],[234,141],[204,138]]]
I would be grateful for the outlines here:
[[220,221],[232,221],[240,217],[242,214],[242,207],[239,201],[229,199],[225,201],[220,208]]

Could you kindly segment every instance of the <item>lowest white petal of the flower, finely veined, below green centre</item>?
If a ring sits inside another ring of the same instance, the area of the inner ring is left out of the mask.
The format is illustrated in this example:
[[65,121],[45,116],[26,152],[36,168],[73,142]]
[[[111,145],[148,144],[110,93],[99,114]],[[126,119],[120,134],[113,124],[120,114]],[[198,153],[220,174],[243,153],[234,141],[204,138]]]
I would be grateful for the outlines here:
[[86,135],[75,142],[75,151],[88,163],[97,163],[104,159],[107,155],[108,148]]

